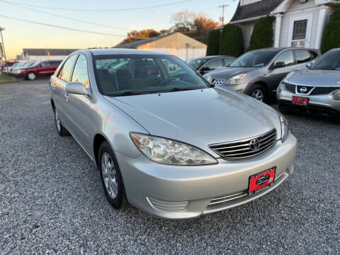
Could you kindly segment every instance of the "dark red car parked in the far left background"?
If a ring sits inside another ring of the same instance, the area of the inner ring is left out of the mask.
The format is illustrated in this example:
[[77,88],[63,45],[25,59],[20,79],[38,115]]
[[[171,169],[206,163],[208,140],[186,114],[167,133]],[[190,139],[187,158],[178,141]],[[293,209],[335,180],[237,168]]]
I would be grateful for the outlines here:
[[37,62],[33,65],[33,67],[22,69],[18,76],[29,80],[37,79],[37,77],[51,76],[55,73],[55,70],[61,62],[62,60],[46,60]]

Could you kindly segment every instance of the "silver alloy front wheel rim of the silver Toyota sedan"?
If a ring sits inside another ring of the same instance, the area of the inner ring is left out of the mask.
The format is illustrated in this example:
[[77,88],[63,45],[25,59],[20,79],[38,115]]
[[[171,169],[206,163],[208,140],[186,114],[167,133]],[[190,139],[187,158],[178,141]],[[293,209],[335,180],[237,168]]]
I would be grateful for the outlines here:
[[115,199],[118,193],[117,173],[113,159],[107,152],[104,152],[101,157],[101,171],[108,196],[110,196],[111,199]]

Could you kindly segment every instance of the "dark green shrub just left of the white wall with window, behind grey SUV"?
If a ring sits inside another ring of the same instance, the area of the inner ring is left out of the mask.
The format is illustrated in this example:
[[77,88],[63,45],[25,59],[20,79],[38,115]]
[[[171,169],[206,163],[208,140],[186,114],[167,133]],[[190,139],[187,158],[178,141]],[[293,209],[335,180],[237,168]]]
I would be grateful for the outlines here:
[[247,51],[273,47],[273,21],[273,17],[266,16],[255,22]]

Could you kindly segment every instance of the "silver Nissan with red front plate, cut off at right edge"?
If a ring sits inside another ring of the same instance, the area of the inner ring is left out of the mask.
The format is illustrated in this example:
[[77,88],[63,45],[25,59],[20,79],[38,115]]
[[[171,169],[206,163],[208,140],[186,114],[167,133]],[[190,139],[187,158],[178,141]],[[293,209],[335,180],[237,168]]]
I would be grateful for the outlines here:
[[280,111],[340,115],[340,48],[330,50],[307,67],[291,72],[278,86]]

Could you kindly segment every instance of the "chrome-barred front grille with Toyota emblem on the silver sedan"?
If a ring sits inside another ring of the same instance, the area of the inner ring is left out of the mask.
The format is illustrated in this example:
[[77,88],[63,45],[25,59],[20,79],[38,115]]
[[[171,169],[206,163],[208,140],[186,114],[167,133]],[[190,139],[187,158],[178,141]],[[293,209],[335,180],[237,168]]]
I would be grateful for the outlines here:
[[[258,146],[254,145],[254,140],[257,140]],[[253,157],[274,145],[276,141],[276,129],[266,132],[257,137],[251,137],[245,140],[234,142],[223,142],[220,144],[209,145],[210,149],[219,154],[225,159],[242,159],[246,157]]]

